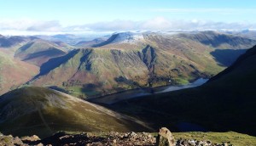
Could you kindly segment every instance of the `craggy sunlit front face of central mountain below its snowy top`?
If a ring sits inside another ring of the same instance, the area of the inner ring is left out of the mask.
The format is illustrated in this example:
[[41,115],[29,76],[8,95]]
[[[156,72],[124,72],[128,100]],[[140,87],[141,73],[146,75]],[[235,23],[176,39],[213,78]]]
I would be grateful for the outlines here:
[[121,53],[119,50],[77,49],[61,58],[50,59],[31,83],[67,87],[69,90],[80,87],[88,94],[109,93],[136,86],[126,79],[134,76],[139,76],[139,81],[146,84],[147,73],[147,67],[132,50]]

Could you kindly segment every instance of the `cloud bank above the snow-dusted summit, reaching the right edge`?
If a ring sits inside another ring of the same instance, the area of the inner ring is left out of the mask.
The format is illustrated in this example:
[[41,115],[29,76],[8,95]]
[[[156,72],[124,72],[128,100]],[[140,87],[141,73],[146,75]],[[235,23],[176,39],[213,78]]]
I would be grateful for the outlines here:
[[168,20],[156,17],[145,21],[113,20],[66,28],[68,31],[169,31],[169,30],[245,30],[255,29],[256,24],[247,22],[215,22],[210,20]]

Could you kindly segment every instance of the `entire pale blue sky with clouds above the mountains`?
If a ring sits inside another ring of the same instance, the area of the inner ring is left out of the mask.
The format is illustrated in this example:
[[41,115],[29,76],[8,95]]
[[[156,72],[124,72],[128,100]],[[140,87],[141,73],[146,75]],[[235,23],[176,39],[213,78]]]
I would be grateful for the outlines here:
[[255,0],[0,0],[0,34],[256,30]]

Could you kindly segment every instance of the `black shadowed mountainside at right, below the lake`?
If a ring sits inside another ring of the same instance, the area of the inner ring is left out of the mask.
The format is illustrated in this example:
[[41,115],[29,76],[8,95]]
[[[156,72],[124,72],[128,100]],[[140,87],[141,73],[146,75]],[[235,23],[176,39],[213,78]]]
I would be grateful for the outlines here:
[[[256,47],[201,87],[130,99],[110,106],[172,131],[236,131],[256,135]],[[152,118],[154,117],[154,118]]]

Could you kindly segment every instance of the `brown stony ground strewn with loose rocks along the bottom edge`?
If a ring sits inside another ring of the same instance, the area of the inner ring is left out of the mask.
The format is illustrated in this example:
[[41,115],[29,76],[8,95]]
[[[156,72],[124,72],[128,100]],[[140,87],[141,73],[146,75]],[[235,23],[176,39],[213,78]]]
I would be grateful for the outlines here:
[[[4,136],[0,134],[0,146],[12,145],[155,145],[156,137],[147,132],[97,132],[97,133],[80,133],[80,134],[67,134],[65,132],[58,132],[55,135],[40,139],[37,136],[32,137],[13,137],[11,135]],[[212,143],[211,141],[198,141],[195,139],[176,139],[177,146],[230,146],[231,143]]]

